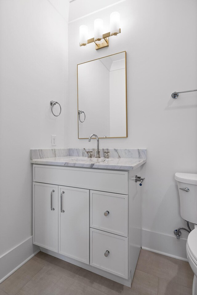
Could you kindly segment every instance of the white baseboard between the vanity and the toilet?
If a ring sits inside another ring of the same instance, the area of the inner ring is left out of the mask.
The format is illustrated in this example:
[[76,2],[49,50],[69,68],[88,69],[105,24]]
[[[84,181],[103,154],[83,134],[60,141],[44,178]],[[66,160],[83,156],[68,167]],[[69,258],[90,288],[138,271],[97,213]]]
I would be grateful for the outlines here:
[[142,249],[187,261],[187,239],[142,229]]

